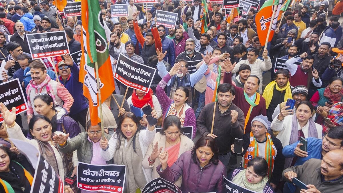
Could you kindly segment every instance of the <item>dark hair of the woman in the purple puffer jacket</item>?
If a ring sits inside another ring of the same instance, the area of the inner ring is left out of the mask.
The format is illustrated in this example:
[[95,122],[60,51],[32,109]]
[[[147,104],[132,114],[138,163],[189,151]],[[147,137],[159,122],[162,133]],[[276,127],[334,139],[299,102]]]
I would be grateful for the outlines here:
[[210,159],[210,162],[216,165],[219,163],[219,149],[215,144],[214,139],[209,136],[200,137],[200,139],[197,141],[194,147],[191,148],[191,155],[194,163],[197,163],[197,149],[199,149],[200,147],[211,148],[211,151],[213,152],[213,157]]

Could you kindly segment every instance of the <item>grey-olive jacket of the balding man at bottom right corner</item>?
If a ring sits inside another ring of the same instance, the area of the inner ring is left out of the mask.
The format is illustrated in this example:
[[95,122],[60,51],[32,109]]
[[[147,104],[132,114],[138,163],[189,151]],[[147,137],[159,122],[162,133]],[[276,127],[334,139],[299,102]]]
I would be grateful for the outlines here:
[[[292,166],[285,169],[282,172],[282,177],[284,180],[288,181],[285,178],[285,173],[288,171],[293,171],[297,173],[298,179],[301,182],[304,182],[306,185],[313,184],[321,193],[341,193],[343,190],[343,177],[335,181],[323,181],[321,182],[321,160],[320,159],[309,159],[304,164],[299,166]],[[296,191],[300,192],[300,189],[297,187]]]

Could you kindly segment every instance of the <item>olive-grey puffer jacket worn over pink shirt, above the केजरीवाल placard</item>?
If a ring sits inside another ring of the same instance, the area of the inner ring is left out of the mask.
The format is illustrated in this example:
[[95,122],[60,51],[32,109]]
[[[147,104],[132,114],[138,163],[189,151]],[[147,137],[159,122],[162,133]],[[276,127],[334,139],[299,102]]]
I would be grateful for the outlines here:
[[[110,140],[111,135],[105,133],[107,140]],[[93,158],[93,143],[88,140],[87,132],[79,133],[79,135],[67,140],[65,147],[58,146],[63,153],[73,152],[76,150],[78,160],[84,163],[91,163]],[[112,160],[107,161],[107,164],[113,164]]]

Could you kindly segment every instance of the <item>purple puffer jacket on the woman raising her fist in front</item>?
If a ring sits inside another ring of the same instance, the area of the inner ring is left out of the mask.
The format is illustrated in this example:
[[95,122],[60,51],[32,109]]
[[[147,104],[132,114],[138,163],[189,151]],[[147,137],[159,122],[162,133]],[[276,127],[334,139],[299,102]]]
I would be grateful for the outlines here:
[[226,168],[223,163],[213,164],[210,162],[202,169],[199,160],[194,162],[191,151],[184,152],[169,168],[163,171],[161,165],[157,167],[157,172],[161,178],[170,182],[175,182],[182,175],[182,192],[224,192],[224,179]]

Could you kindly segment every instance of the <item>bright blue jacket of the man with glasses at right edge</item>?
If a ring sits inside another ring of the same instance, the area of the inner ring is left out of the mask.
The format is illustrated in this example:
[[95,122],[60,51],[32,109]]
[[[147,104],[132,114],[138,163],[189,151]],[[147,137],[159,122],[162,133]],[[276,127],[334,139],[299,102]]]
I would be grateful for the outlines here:
[[[297,161],[295,162],[294,166],[299,166],[302,165],[305,161],[311,159],[311,158],[316,158],[316,159],[321,159],[321,151],[322,151],[322,139],[318,139],[315,137],[309,137],[306,138],[307,140],[307,152],[308,152],[308,156],[301,158],[298,157]],[[286,158],[290,158],[290,157],[297,157],[294,154],[294,150],[297,147],[298,143],[300,143],[300,141],[295,142],[294,144],[291,145],[287,145],[285,147],[283,147],[282,149],[282,154],[286,157]]]

